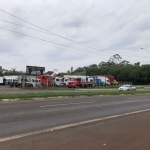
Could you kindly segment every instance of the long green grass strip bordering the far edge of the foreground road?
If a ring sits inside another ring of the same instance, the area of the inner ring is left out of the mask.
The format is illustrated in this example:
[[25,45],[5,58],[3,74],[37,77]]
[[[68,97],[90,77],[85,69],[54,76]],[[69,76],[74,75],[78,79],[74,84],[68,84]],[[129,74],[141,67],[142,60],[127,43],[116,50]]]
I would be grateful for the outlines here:
[[79,97],[79,96],[100,96],[100,95],[122,95],[122,94],[146,94],[150,91],[129,91],[129,92],[68,92],[68,93],[25,93],[25,94],[0,94],[2,99],[33,99],[33,98],[48,98],[48,97]]

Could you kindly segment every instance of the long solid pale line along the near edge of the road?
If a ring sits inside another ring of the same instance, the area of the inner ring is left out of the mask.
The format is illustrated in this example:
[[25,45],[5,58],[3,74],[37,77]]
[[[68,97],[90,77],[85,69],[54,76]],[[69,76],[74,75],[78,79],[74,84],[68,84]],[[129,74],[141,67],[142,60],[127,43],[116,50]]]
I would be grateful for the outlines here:
[[36,134],[66,129],[66,128],[75,127],[75,126],[79,126],[79,125],[85,125],[85,124],[89,124],[89,123],[94,123],[94,122],[113,119],[113,118],[119,118],[119,117],[123,117],[123,116],[129,116],[129,115],[138,114],[138,113],[142,113],[142,112],[148,112],[148,111],[150,111],[150,109],[139,110],[139,111],[124,113],[124,114],[114,115],[114,116],[109,116],[109,117],[104,117],[104,118],[92,119],[92,120],[82,121],[82,122],[78,122],[78,123],[72,123],[72,124],[67,124],[67,125],[63,125],[63,126],[44,129],[44,130],[40,130],[40,131],[35,131],[35,132],[30,132],[30,133],[25,133],[25,134],[20,134],[20,135],[14,135],[14,136],[5,137],[5,138],[0,138],[0,143],[10,141],[10,140],[19,139],[19,138],[23,138],[23,137],[27,137],[27,136],[31,136],[31,135],[36,135]]

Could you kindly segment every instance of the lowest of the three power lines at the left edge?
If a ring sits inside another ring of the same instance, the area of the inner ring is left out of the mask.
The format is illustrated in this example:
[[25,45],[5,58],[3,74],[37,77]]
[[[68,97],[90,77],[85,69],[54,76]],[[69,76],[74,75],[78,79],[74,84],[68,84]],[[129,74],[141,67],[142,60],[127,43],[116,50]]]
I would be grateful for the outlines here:
[[[2,29],[2,30],[4,30],[4,31],[11,32],[11,33],[15,33],[15,34],[23,35],[23,36],[26,36],[26,37],[29,37],[29,38],[32,38],[32,39],[36,39],[36,40],[38,40],[38,41],[40,40],[40,41],[42,41],[42,42],[47,42],[47,43],[55,44],[55,45],[58,45],[58,46],[63,46],[63,47],[67,47],[67,48],[75,49],[75,50],[78,50],[78,51],[83,51],[83,52],[88,52],[88,53],[92,53],[92,54],[100,55],[100,54],[97,54],[97,53],[93,53],[93,52],[89,52],[89,51],[85,51],[85,50],[81,50],[81,49],[73,48],[73,47],[70,47],[70,46],[66,46],[66,45],[63,45],[63,44],[59,44],[59,43],[55,43],[55,42],[51,42],[51,41],[48,41],[48,40],[45,40],[45,39],[37,38],[37,37],[31,36],[31,35],[27,35],[27,34],[19,33],[19,32],[13,31],[13,30],[5,29],[5,28],[2,28],[2,27],[0,27],[0,29]],[[136,61],[136,60],[132,60],[132,61]],[[143,61],[142,61],[142,62],[143,62]]]

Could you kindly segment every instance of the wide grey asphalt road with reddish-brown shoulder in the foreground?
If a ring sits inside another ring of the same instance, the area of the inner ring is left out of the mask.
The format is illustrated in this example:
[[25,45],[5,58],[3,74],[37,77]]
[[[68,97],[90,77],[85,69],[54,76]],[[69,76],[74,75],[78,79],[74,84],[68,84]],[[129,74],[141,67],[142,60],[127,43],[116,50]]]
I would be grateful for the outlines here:
[[150,111],[131,113],[149,108],[148,94],[0,102],[0,150],[149,150]]

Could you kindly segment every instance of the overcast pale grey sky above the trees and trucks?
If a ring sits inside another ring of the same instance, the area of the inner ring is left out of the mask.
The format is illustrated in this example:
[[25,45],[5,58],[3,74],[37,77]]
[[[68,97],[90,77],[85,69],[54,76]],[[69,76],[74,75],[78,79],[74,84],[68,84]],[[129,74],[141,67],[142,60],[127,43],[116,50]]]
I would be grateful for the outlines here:
[[131,63],[150,63],[150,0],[0,0],[0,4],[1,10],[49,31],[0,10],[0,66],[5,69],[25,71],[31,65],[65,72],[71,66],[108,61],[114,54]]

